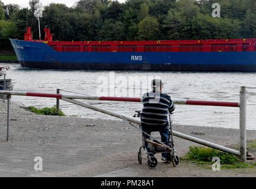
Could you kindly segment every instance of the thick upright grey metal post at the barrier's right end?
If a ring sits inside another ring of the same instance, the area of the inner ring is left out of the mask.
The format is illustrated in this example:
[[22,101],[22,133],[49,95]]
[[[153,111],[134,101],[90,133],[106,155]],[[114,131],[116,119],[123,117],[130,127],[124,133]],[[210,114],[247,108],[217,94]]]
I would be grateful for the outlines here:
[[241,86],[240,91],[240,112],[239,112],[239,129],[240,129],[240,159],[243,162],[247,161],[247,91],[245,86]]

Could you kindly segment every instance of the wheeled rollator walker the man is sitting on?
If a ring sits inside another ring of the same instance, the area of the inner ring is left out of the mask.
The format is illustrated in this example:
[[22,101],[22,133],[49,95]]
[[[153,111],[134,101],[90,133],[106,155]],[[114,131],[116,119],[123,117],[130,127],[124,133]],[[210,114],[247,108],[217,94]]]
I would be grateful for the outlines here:
[[[133,117],[140,118],[139,128],[137,128],[137,126],[133,125],[133,123],[130,123],[130,124],[135,126],[137,129],[139,129],[142,132],[142,146],[140,146],[139,152],[137,153],[139,164],[142,164],[142,148],[143,148],[145,151],[145,154],[147,154],[149,167],[151,167],[151,168],[156,167],[158,160],[156,159],[155,156],[152,156],[152,155],[158,154],[158,153],[168,153],[167,162],[169,164],[172,163],[172,165],[174,165],[174,167],[177,167],[180,162],[180,159],[177,155],[175,155],[176,150],[174,149],[174,142],[173,142],[173,133],[172,133],[171,116],[170,116],[171,113],[168,111],[169,131],[170,131],[169,132],[169,141],[168,141],[168,144],[164,144],[163,142],[158,141],[157,139],[153,138],[151,135],[148,135],[148,133],[142,131],[142,129],[141,129],[141,126],[142,126],[141,125],[141,111],[138,110],[135,112],[136,112],[136,114]],[[155,132],[155,131],[153,131],[153,132]],[[150,138],[146,139],[145,135],[149,136]],[[145,142],[148,142],[149,151],[145,148]]]

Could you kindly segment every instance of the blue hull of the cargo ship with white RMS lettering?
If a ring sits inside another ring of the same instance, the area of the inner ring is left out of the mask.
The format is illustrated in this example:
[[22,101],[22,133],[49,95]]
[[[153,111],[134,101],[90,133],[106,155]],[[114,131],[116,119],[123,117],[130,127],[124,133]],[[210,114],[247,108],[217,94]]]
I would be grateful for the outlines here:
[[10,41],[21,66],[36,69],[256,71],[256,51],[58,52],[46,43]]

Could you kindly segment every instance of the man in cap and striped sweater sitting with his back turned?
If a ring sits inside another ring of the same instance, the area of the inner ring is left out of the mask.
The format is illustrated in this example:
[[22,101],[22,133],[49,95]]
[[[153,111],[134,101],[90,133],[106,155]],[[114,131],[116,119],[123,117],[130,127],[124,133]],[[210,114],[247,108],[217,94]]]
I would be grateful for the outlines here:
[[[160,79],[153,79],[151,82],[152,91],[142,96],[142,131],[151,134],[152,131],[159,131],[161,141],[167,145],[169,141],[168,110],[172,113],[175,105],[168,94],[162,93],[163,83]],[[148,135],[143,135],[149,139]],[[145,148],[148,149],[148,142],[145,141]],[[167,161],[168,153],[162,153],[162,160]]]

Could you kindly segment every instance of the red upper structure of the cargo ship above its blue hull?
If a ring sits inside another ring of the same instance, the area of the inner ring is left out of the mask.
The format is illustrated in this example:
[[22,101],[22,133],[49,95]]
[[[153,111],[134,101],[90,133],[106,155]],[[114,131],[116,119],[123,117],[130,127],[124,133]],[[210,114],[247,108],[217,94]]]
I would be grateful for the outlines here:
[[[52,41],[53,34],[44,28],[44,43],[62,52],[241,52],[256,51],[256,39],[158,40],[158,41]],[[27,28],[25,41],[32,40]]]

